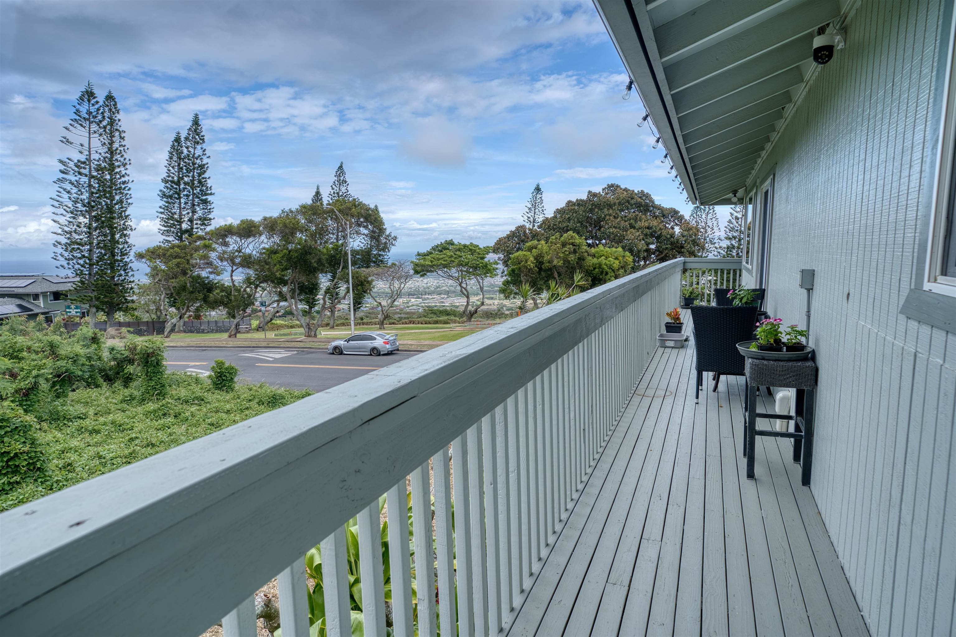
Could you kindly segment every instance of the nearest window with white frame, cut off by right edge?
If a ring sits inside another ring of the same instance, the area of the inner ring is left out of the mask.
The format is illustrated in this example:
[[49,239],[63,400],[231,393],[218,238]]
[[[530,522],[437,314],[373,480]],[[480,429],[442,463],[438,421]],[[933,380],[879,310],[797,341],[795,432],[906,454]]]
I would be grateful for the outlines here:
[[943,127],[937,156],[939,169],[933,193],[933,214],[929,222],[923,290],[956,297],[956,49],[953,46],[956,19],[950,25],[949,34],[949,52],[945,59]]

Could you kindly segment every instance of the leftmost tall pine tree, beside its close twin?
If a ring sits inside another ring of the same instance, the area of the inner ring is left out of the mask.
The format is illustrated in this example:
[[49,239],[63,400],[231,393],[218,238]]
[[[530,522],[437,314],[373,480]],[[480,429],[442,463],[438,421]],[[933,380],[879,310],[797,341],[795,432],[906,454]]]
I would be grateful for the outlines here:
[[99,153],[99,131],[102,116],[97,92],[86,83],[76,98],[73,117],[63,126],[67,134],[60,143],[76,151],[76,158],[58,160],[60,176],[54,180],[53,200],[57,230],[54,258],[60,268],[78,279],[74,299],[89,303],[90,315],[96,319],[97,297],[97,212],[98,188],[94,172]]

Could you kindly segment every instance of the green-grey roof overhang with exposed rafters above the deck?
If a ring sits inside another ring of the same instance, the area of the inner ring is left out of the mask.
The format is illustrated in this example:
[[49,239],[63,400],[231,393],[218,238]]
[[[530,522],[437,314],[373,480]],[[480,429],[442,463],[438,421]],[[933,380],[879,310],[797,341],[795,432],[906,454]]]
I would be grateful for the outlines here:
[[[730,205],[852,0],[594,0],[694,204]],[[832,29],[833,27],[831,27]]]

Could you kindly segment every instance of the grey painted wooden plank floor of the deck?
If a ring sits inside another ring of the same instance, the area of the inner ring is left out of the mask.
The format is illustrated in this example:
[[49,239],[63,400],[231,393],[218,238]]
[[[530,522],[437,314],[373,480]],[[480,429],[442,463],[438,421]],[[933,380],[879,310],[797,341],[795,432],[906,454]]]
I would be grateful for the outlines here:
[[744,379],[695,405],[692,345],[650,362],[508,634],[868,634],[791,442],[749,481]]

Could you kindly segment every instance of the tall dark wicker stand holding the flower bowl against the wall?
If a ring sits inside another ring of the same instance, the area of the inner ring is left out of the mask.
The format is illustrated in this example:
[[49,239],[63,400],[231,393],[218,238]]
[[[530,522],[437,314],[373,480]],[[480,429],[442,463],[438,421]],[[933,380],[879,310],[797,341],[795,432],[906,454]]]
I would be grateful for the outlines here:
[[[793,462],[801,467],[800,483],[810,485],[814,463],[814,403],[816,390],[816,363],[813,361],[762,361],[747,359],[747,413],[744,418],[744,455],[747,457],[747,477],[754,479],[754,453],[757,436],[793,439]],[[796,389],[795,416],[757,411],[757,391],[760,386],[793,387]],[[793,431],[758,429],[757,418],[793,420]]]

